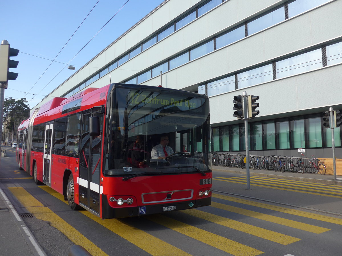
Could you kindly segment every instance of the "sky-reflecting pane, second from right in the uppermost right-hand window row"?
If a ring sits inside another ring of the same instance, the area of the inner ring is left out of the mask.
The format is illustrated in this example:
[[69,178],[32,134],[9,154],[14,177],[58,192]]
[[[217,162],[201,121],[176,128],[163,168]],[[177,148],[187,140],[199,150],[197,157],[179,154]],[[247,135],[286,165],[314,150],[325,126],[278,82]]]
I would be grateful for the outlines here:
[[259,32],[265,28],[271,27],[274,24],[282,22],[285,20],[285,9],[284,5],[277,8],[269,13],[262,15],[250,22],[248,22],[248,35]]

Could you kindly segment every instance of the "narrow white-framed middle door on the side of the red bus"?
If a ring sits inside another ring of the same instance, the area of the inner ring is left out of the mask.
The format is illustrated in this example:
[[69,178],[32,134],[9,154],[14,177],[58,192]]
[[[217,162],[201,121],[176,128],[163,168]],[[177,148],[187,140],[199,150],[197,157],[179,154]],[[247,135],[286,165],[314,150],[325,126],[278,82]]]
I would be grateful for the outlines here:
[[52,130],[53,124],[45,126],[44,154],[43,154],[43,182],[51,183],[51,152],[52,152]]

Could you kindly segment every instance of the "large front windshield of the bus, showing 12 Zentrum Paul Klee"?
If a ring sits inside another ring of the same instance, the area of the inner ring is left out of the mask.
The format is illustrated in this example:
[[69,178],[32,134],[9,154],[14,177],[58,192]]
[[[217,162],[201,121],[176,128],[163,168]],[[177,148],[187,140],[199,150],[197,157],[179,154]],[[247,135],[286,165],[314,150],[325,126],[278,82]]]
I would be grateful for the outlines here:
[[[207,96],[137,88],[115,87],[108,98],[104,175],[127,179],[211,171]],[[172,151],[166,159],[153,157],[152,149],[166,138]]]

